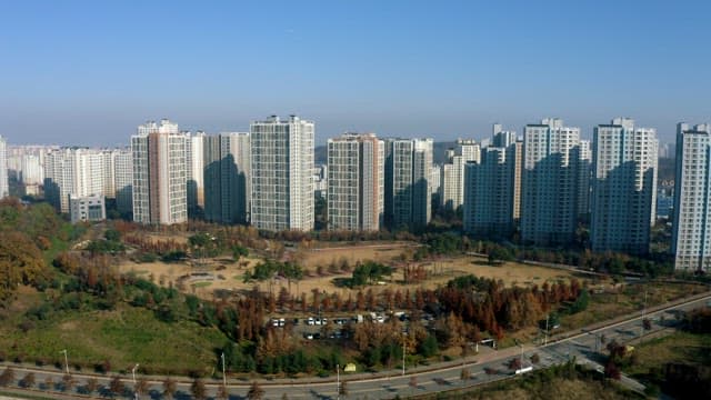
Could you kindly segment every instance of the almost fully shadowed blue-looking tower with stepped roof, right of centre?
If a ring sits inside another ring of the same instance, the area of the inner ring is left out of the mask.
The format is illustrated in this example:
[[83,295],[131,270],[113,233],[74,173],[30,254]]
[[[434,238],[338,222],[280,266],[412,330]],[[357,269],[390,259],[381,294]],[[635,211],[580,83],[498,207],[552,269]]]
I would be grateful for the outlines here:
[[513,232],[513,167],[515,148],[488,147],[481,161],[464,172],[464,230],[508,239]]

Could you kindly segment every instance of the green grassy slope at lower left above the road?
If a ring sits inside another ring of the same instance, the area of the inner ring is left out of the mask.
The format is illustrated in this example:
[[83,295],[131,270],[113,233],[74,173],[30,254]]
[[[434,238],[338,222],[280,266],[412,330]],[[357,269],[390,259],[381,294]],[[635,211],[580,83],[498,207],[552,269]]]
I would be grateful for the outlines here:
[[113,311],[59,312],[26,332],[20,311],[39,302],[40,296],[26,293],[23,304],[16,304],[0,324],[0,349],[10,360],[21,354],[63,363],[60,351],[67,349],[70,364],[84,369],[110,360],[113,371],[140,363],[147,373],[209,373],[216,364],[214,349],[227,340],[217,329],[161,322],[151,311],[127,304]]

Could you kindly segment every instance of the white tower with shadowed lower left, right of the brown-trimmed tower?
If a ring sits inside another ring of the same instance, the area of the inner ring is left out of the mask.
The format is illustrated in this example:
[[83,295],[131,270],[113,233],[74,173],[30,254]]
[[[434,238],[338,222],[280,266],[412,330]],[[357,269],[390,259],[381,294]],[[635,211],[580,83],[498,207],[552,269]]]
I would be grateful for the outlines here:
[[423,228],[432,217],[432,139],[385,140],[385,224]]

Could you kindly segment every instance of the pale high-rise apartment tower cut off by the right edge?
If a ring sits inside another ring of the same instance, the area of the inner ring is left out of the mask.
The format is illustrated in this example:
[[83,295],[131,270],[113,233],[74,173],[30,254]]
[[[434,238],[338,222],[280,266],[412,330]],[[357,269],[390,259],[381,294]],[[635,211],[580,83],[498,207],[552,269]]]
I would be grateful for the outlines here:
[[711,271],[711,124],[677,126],[674,268]]

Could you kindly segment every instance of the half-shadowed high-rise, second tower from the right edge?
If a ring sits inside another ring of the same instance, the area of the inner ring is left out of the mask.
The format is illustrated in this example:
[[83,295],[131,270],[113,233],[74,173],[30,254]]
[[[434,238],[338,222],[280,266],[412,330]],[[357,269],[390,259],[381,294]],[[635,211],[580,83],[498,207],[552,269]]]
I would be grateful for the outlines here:
[[595,127],[593,140],[592,250],[647,253],[655,220],[657,131],[615,118]]

